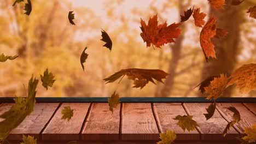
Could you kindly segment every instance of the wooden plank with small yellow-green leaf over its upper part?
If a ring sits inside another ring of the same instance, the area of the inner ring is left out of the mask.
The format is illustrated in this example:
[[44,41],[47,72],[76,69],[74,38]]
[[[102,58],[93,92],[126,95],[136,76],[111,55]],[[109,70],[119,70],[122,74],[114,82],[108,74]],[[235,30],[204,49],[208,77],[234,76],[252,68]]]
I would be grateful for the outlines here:
[[[73,117],[69,122],[67,119],[61,119],[61,110],[65,106],[73,109]],[[89,106],[90,103],[63,103],[44,129],[42,140],[79,140],[79,133]]]

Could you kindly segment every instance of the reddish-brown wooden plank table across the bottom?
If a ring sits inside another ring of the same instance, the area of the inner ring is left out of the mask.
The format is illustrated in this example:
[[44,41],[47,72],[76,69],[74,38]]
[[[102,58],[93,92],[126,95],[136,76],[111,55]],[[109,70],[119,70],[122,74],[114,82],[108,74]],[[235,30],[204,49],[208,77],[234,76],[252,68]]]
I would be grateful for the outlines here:
[[[0,114],[10,109],[13,103],[0,104]],[[108,103],[36,103],[34,112],[11,131],[8,140],[18,142],[22,134],[32,135],[38,143],[65,143],[77,140],[84,143],[155,143],[159,133],[174,130],[176,143],[235,143],[236,136],[244,133],[245,127],[256,124],[256,103],[218,103],[217,111],[206,121],[203,113],[210,103],[121,103],[114,112]],[[61,110],[71,106],[71,120],[62,120]],[[235,106],[241,121],[228,131],[223,130],[232,121],[229,106]],[[188,132],[177,126],[177,115],[193,115],[200,127]]]

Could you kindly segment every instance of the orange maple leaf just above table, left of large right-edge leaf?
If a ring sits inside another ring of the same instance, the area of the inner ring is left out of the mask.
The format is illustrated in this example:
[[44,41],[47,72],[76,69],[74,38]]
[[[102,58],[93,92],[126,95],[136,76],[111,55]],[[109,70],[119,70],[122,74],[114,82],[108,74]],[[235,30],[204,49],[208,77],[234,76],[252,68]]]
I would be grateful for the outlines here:
[[206,99],[216,100],[222,97],[227,83],[228,78],[223,74],[221,74],[220,77],[214,77],[210,86],[205,87],[205,92],[209,94]]

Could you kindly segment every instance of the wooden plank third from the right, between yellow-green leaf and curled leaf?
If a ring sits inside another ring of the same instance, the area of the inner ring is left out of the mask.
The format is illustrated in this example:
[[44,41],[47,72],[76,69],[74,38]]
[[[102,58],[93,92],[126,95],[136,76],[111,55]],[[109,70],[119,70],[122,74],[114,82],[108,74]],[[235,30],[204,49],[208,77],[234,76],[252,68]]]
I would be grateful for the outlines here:
[[193,119],[200,125],[197,128],[201,133],[202,140],[232,140],[239,136],[234,128],[228,131],[228,134],[223,137],[223,131],[228,124],[226,120],[216,110],[212,118],[206,121],[205,115],[207,113],[206,108],[210,103],[184,103],[185,111],[193,116]]

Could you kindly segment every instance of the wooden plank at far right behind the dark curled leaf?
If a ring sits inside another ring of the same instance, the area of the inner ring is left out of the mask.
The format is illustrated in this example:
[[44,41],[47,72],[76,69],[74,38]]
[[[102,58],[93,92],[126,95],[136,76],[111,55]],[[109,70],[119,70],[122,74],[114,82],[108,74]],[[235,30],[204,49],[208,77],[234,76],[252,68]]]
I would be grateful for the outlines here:
[[229,122],[232,121],[233,112],[228,110],[228,107],[234,106],[241,115],[241,121],[236,123],[235,126],[238,128],[239,133],[243,134],[245,127],[252,127],[252,124],[256,123],[256,116],[249,111],[241,103],[218,103],[217,109],[220,114]]

